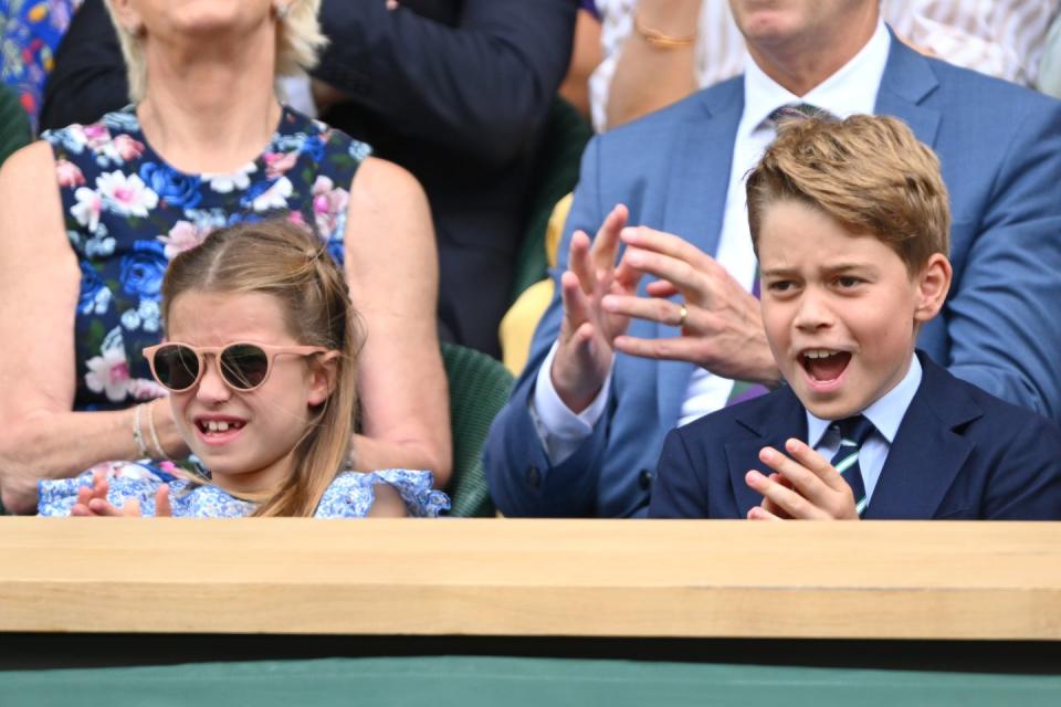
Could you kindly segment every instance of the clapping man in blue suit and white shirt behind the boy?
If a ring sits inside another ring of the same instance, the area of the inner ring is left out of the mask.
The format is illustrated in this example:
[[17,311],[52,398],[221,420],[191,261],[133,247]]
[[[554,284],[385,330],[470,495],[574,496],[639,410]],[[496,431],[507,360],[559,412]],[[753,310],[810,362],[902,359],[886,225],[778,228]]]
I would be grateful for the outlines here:
[[[778,383],[743,178],[785,105],[893,115],[939,155],[955,284],[918,347],[1061,418],[1061,104],[917,54],[876,0],[731,4],[745,75],[586,150],[557,295],[487,442],[506,515],[642,516],[670,429],[737,397],[732,380]],[[635,247],[613,267],[620,241]]]

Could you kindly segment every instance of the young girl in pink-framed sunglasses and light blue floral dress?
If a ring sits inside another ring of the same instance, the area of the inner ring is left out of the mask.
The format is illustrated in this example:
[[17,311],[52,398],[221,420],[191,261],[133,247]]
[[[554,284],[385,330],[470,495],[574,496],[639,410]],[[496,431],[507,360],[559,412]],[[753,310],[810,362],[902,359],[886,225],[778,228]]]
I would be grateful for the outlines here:
[[[177,255],[162,344],[144,349],[202,478],[118,463],[40,482],[42,516],[437,516],[431,474],[342,472],[357,392],[357,319],[322,242],[286,221],[240,224]],[[134,436],[153,443],[148,413]]]

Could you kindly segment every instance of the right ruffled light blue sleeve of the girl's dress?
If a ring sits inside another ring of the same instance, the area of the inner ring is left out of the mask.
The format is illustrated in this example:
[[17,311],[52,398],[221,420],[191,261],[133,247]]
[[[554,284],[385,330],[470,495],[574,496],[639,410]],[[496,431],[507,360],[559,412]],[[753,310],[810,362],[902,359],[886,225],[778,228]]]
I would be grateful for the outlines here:
[[431,487],[430,472],[413,472],[389,468],[379,472],[344,472],[324,492],[314,514],[316,518],[363,518],[368,515],[377,484],[389,484],[406,502],[409,515],[416,518],[434,518],[449,509],[449,497]]

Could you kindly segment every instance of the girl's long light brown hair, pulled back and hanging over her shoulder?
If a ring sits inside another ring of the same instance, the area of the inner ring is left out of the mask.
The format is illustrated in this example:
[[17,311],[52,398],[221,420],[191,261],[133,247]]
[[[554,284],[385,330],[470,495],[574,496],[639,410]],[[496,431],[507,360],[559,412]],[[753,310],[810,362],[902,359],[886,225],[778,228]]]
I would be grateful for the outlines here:
[[346,465],[357,411],[361,335],[343,273],[304,226],[275,219],[211,233],[178,254],[162,279],[162,318],[183,292],[264,293],[281,304],[287,333],[339,352],[335,388],[293,450],[294,473],[261,500],[255,516],[312,516]]

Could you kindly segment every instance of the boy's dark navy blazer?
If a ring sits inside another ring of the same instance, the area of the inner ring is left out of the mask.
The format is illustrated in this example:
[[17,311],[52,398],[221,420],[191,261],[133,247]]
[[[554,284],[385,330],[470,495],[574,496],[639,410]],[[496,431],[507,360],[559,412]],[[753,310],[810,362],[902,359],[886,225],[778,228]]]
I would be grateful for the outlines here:
[[[866,519],[1061,520],[1061,429],[958,380],[921,354],[924,377],[899,426]],[[744,483],[764,446],[807,440],[790,388],[671,431],[649,515],[744,518],[763,496]]]

